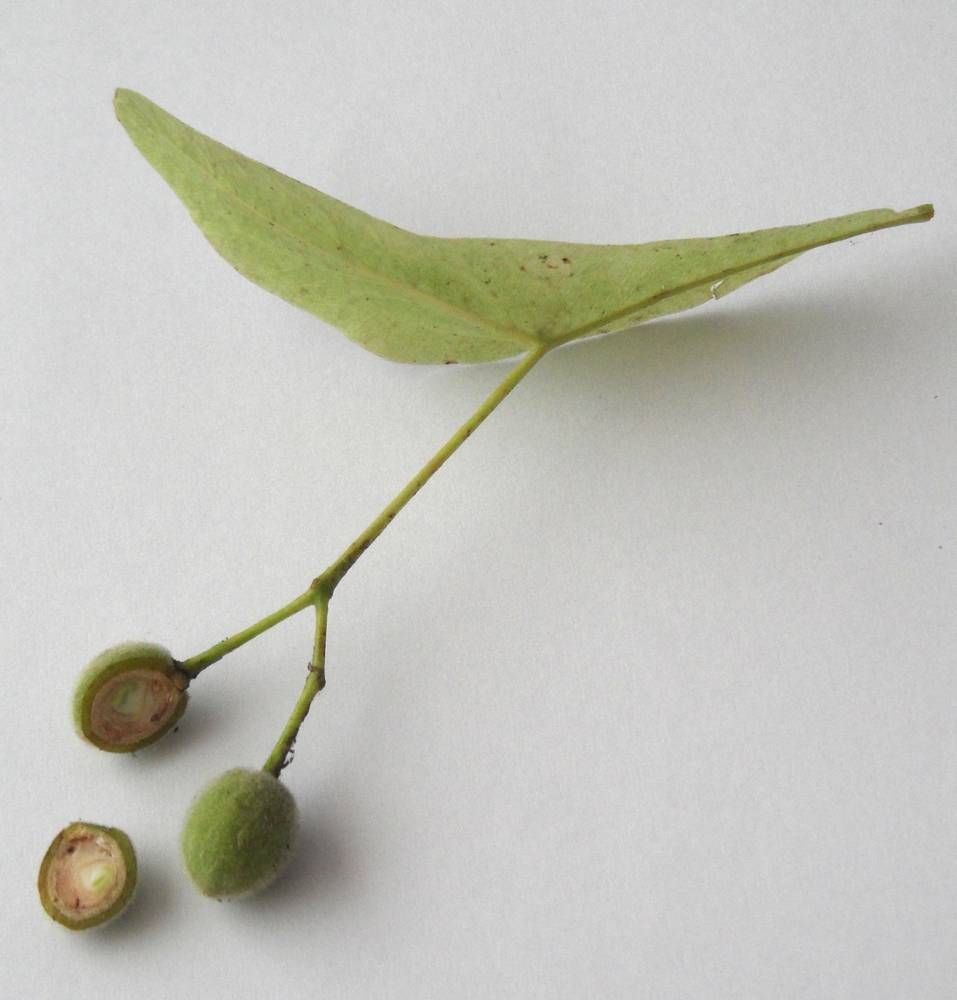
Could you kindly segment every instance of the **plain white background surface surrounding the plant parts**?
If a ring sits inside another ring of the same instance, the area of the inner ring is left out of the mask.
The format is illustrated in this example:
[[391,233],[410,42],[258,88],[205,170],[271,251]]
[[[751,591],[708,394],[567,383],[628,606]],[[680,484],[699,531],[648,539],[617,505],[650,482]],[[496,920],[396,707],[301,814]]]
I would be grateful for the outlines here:
[[[0,12],[0,993],[957,995],[950,0],[8,2]],[[265,758],[308,616],[135,759],[73,682],[298,594],[507,370],[365,353],[240,278],[113,117],[137,89],[398,225],[599,243],[934,201],[547,358],[332,605],[288,873],[177,838]],[[36,899],[118,825],[124,918]]]

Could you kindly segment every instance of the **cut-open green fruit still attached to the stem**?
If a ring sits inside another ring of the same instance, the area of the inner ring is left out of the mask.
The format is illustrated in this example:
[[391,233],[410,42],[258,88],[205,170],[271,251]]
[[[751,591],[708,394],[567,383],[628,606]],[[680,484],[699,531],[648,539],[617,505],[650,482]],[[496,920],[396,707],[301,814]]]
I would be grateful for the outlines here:
[[73,721],[88,742],[131,753],[169,732],[186,711],[190,677],[168,649],[124,642],[104,650],[80,675]]

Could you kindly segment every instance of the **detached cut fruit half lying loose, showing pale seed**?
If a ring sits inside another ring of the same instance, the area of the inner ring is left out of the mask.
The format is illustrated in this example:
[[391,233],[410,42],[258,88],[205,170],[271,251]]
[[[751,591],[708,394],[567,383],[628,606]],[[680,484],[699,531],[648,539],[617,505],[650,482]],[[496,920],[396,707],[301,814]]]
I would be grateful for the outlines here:
[[130,838],[114,827],[82,821],[53,838],[37,878],[43,908],[71,931],[99,927],[119,916],[135,888]]

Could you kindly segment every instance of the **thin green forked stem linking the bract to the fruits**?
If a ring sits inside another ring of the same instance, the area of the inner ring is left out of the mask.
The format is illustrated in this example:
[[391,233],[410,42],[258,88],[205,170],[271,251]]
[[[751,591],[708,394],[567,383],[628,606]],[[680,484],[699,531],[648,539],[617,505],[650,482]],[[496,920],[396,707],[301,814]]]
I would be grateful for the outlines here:
[[444,445],[429,459],[425,465],[406,483],[386,505],[382,513],[373,520],[354,542],[333,562],[323,573],[312,581],[309,589],[295,600],[281,607],[278,611],[263,618],[262,621],[250,625],[249,628],[237,632],[234,636],[211,646],[205,652],[197,653],[182,663],[182,668],[191,677],[195,677],[210,664],[224,657],[227,653],[249,642],[267,629],[278,625],[281,621],[292,617],[303,608],[313,605],[316,609],[316,635],[313,646],[312,662],[309,665],[309,676],[296,702],[292,715],[286,723],[273,748],[269,759],[263,765],[263,770],[279,777],[279,772],[288,763],[287,758],[296,740],[299,727],[302,725],[313,698],[325,686],[326,661],[326,619],[329,613],[329,601],[342,578],[356,564],[359,557],[392,523],[396,514],[419,492],[420,489],[448,461],[452,454],[471,436],[472,432],[488,417],[503,399],[518,385],[519,382],[541,361],[554,345],[541,344],[528,352],[525,357],[508,373],[508,375],[492,390],[478,409],[464,424],[445,442]]

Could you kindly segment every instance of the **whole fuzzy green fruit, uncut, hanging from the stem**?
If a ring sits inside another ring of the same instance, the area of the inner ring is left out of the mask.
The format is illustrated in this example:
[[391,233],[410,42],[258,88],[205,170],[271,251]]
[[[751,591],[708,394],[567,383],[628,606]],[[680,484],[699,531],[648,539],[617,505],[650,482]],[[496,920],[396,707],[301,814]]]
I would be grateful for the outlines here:
[[265,888],[289,857],[298,828],[296,801],[267,771],[237,767],[193,800],[181,846],[186,870],[204,896],[231,899]]

